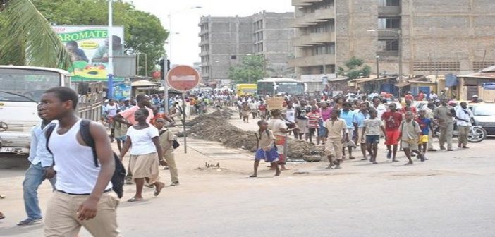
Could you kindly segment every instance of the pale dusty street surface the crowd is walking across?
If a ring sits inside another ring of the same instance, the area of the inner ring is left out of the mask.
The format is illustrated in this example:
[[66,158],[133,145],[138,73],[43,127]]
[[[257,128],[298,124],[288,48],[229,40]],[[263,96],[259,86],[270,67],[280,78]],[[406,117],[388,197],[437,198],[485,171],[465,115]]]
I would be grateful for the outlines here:
[[[231,123],[249,128],[254,121]],[[125,201],[135,186],[125,187],[118,209],[123,236],[495,236],[493,139],[469,150],[431,152],[414,166],[403,166],[403,153],[401,162],[390,162],[380,147],[379,164],[359,156],[340,170],[325,170],[326,161],[297,163],[278,178],[266,168],[247,178],[249,154],[207,156],[195,149],[200,143],[192,140],[188,154],[176,150],[181,186],[167,186],[157,198],[147,188],[148,200],[140,203]],[[205,169],[205,162],[221,169]],[[42,236],[42,224],[16,226],[25,217],[23,169],[1,170],[0,236]],[[169,171],[161,176],[170,183]],[[50,196],[45,182],[43,210]]]

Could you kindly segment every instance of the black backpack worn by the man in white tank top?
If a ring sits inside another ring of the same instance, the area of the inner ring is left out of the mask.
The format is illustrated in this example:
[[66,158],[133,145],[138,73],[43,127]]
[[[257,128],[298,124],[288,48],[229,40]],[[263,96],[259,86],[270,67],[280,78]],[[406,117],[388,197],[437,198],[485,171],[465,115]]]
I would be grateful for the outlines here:
[[[93,152],[94,166],[99,167],[96,146],[94,144],[94,139],[92,138],[90,133],[90,123],[91,123],[90,120],[82,119],[80,123],[79,133],[81,135],[82,140],[86,143],[86,145],[91,147],[91,150]],[[48,147],[48,142],[50,140],[50,135],[51,133],[53,133],[54,129],[55,129],[55,124],[49,126],[49,128],[47,128],[47,131],[45,133],[45,136],[47,138],[46,147],[48,152],[50,152],[50,154],[52,155],[53,153]],[[114,190],[118,198],[122,198],[124,180],[126,179],[126,168],[123,166],[121,159],[118,157],[117,154],[115,154],[115,152],[114,152],[114,162],[115,162],[115,171],[114,171],[114,175],[111,176],[112,190]]]

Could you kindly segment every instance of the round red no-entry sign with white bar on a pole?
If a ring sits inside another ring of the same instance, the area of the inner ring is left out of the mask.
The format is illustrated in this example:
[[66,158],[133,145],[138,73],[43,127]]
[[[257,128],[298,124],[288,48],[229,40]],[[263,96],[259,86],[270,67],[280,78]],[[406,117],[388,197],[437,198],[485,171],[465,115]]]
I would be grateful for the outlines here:
[[197,73],[195,68],[187,65],[175,66],[169,73],[166,73],[167,83],[178,91],[192,90],[200,83],[200,80],[200,73]]

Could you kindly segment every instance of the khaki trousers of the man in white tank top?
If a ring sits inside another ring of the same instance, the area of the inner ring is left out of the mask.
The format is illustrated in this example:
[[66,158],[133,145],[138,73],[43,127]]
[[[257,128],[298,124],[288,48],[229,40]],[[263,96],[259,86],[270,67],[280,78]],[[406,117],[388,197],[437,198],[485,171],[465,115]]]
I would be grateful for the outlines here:
[[47,219],[44,223],[45,237],[78,236],[81,226],[95,237],[121,236],[117,225],[118,199],[113,193],[104,193],[99,200],[97,215],[93,219],[78,219],[78,209],[87,195],[69,195],[55,191],[47,208]]

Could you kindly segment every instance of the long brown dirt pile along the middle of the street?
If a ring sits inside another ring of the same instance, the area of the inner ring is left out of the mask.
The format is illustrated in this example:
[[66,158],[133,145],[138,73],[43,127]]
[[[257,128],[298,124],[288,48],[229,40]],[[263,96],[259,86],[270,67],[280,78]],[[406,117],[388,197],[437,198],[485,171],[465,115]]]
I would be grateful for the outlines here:
[[[211,114],[198,116],[186,123],[186,126],[190,126],[187,133],[195,138],[221,142],[226,147],[243,148],[255,152],[257,141],[255,132],[241,130],[228,123],[228,119],[233,114],[236,114],[236,111],[221,109]],[[324,152],[322,148],[312,143],[289,139],[288,159],[302,159],[305,155],[315,154],[323,155]]]

